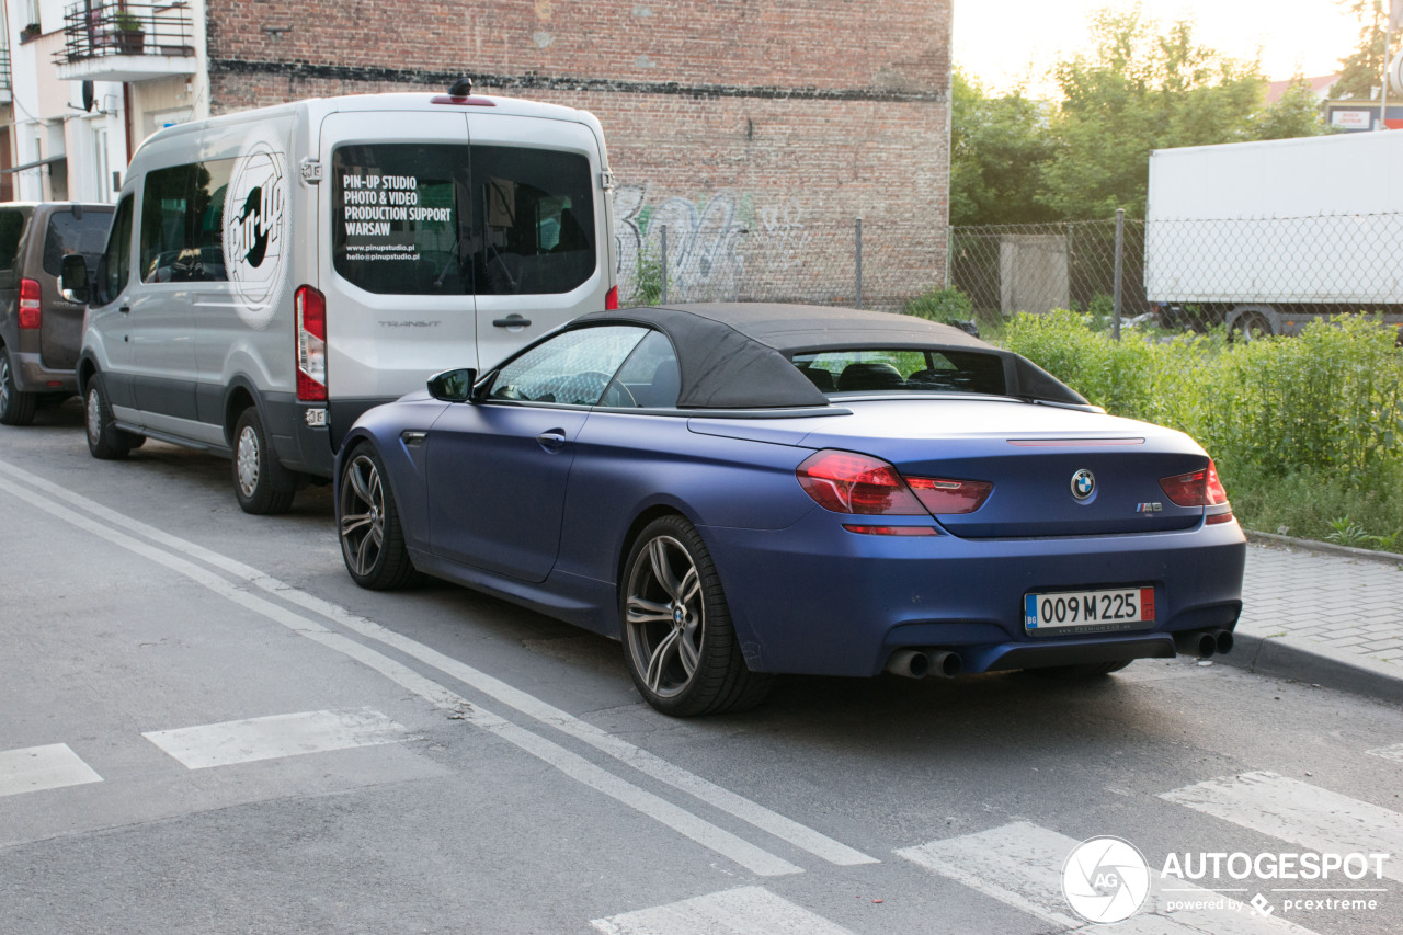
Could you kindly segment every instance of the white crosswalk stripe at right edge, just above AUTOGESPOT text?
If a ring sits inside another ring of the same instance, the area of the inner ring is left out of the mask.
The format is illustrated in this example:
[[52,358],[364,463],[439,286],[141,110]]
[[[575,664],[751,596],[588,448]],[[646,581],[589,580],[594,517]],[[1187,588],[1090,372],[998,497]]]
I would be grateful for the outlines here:
[[[1274,772],[1209,779],[1160,799],[1322,854],[1390,854],[1383,876],[1403,880],[1403,814],[1397,811]],[[1354,880],[1340,886],[1350,883],[1362,886]]]

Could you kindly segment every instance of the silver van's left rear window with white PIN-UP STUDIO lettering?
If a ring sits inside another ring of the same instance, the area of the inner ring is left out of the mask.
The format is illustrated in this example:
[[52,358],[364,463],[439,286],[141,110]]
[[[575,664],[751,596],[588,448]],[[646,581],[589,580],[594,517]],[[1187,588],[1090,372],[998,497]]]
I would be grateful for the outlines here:
[[331,261],[366,292],[467,295],[466,145],[376,143],[331,154]]

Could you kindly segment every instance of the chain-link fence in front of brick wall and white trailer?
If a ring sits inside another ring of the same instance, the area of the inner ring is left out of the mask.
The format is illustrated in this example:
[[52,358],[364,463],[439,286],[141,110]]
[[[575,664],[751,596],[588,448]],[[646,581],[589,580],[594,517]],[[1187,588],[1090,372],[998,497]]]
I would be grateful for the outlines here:
[[1122,320],[1155,314],[1166,324],[1278,334],[1299,331],[1312,313],[1383,312],[1403,321],[1399,213],[939,227],[745,218],[718,204],[728,205],[672,199],[626,216],[615,232],[620,300],[908,312],[950,288],[984,319],[1118,309]]

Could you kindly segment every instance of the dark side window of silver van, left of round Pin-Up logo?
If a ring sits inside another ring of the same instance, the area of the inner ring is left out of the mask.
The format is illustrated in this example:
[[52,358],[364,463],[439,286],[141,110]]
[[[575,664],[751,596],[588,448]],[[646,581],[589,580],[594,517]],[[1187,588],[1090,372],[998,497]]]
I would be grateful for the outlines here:
[[224,192],[234,160],[147,173],[142,195],[142,282],[223,281]]

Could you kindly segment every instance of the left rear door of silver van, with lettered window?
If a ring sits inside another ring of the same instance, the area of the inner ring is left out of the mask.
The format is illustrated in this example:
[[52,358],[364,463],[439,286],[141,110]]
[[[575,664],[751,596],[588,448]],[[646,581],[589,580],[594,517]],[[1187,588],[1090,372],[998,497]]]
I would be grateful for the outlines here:
[[[369,406],[474,366],[460,111],[348,111],[321,122],[317,284],[333,446]],[[293,288],[303,285],[293,284]],[[289,348],[292,354],[292,348]]]

